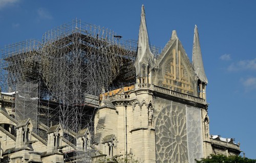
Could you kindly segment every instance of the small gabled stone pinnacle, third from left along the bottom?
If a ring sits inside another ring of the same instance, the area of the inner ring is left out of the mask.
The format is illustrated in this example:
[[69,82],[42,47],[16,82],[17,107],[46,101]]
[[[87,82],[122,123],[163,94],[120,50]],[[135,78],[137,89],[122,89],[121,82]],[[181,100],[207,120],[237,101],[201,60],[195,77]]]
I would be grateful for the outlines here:
[[77,133],[76,147],[79,151],[87,151],[91,145],[91,132],[88,128],[84,128]]

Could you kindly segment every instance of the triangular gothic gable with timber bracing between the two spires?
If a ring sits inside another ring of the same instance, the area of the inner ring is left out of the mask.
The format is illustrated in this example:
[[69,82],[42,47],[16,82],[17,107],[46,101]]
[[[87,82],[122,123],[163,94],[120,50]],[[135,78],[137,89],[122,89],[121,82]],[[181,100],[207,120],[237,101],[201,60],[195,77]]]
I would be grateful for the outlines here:
[[155,85],[198,96],[196,74],[175,31],[156,65]]

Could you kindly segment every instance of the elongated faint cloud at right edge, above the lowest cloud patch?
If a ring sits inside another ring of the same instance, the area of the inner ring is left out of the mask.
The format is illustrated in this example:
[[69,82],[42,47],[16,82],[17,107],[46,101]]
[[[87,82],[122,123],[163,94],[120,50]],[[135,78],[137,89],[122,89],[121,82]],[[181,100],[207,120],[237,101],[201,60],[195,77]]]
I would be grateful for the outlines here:
[[228,71],[239,70],[256,70],[256,58],[253,60],[242,60],[237,63],[232,63],[227,68]]

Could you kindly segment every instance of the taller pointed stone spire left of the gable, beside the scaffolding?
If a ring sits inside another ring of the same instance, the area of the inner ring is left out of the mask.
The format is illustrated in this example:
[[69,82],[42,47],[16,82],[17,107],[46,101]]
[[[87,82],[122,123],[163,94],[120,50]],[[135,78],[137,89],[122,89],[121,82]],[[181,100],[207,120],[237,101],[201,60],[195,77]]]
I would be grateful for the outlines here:
[[[140,29],[139,29],[139,38],[138,38],[138,49],[135,59],[135,68],[136,68],[136,77],[143,77],[142,65],[145,64],[148,71],[151,71],[153,68],[154,55],[150,50],[150,45],[148,43],[148,35],[146,29],[146,20],[145,20],[145,9],[142,5],[141,7],[141,19],[140,19]],[[148,74],[149,72],[147,72]]]

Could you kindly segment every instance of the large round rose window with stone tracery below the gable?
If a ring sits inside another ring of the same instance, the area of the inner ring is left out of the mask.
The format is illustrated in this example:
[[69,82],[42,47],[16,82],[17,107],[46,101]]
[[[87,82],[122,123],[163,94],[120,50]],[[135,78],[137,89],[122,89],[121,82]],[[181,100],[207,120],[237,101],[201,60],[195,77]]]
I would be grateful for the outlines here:
[[186,109],[166,106],[156,117],[157,162],[188,162]]

